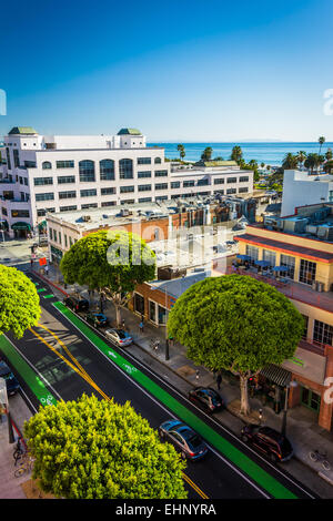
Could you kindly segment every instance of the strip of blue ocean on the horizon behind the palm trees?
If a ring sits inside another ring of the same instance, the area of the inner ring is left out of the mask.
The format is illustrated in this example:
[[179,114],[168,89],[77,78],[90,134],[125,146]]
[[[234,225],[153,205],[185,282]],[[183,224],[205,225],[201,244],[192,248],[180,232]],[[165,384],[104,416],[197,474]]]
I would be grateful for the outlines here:
[[[148,146],[163,146],[165,149],[165,157],[175,159],[179,157],[176,145],[179,143],[148,143]],[[304,142],[252,142],[252,143],[184,143],[185,149],[185,161],[199,161],[203,150],[206,146],[213,149],[212,157],[222,156],[223,160],[229,160],[231,151],[234,145],[241,146],[243,151],[243,157],[245,161],[255,160],[260,163],[265,163],[271,166],[281,165],[285,154],[291,152],[295,154],[299,151],[306,153],[315,152],[319,153],[319,143],[304,143]],[[327,149],[333,150],[333,143],[327,142],[322,146],[321,153],[324,154]]]

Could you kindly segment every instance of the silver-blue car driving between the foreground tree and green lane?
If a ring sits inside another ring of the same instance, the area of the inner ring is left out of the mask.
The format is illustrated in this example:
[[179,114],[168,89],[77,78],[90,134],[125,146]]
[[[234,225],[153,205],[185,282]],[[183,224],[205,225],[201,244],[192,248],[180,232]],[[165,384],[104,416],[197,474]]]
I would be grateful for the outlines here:
[[194,461],[208,453],[208,447],[200,436],[179,420],[164,421],[159,428],[159,435],[162,440],[169,441],[181,451],[183,459]]

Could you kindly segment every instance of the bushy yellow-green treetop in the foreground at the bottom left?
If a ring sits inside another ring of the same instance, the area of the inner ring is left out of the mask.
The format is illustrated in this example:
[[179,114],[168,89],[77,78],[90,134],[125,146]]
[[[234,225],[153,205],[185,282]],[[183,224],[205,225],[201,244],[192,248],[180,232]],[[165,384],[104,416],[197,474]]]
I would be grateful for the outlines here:
[[185,499],[185,468],[127,401],[83,395],[40,408],[24,425],[33,477],[64,499]]

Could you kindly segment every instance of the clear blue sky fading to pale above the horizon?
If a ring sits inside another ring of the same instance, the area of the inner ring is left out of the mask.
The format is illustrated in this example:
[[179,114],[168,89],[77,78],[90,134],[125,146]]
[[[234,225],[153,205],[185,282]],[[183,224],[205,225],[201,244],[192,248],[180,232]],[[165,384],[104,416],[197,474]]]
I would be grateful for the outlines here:
[[332,0],[6,3],[0,134],[333,141]]

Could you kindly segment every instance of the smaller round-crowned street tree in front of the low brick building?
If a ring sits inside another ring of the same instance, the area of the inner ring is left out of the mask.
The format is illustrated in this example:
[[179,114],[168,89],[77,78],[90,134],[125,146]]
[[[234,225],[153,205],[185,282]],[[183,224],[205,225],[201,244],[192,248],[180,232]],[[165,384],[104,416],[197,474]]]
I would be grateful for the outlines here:
[[78,241],[64,254],[60,269],[67,284],[88,285],[110,294],[120,326],[120,308],[137,284],[152,280],[155,255],[139,235],[124,231],[101,231]]

